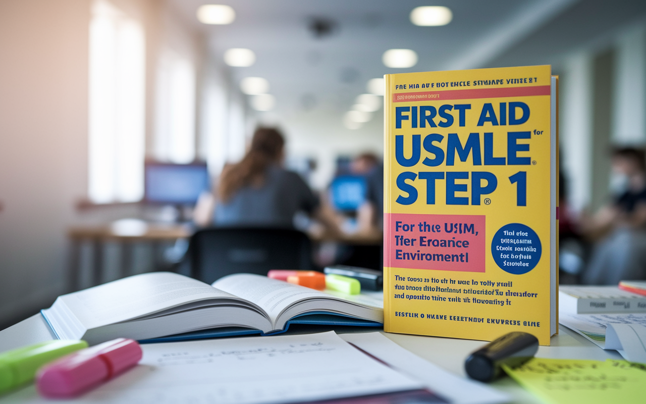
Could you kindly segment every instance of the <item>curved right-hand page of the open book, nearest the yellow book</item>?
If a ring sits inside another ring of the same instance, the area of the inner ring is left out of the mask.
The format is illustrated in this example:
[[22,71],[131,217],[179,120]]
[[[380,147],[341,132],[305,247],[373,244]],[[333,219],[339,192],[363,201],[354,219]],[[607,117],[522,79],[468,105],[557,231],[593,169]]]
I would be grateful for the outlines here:
[[[326,310],[326,303],[324,303],[326,300],[329,302],[342,301],[347,303],[341,304],[369,307],[373,307],[372,304],[375,304],[375,299],[357,298],[357,301],[349,301],[349,299],[343,299],[329,293],[251,273],[229,275],[213,282],[213,286],[262,307],[269,315],[269,319],[276,329],[282,329],[283,324],[276,324],[280,314],[299,302],[311,302],[312,304],[307,305],[311,306],[309,310]],[[361,300],[364,300],[364,302],[360,303]],[[371,301],[371,304],[365,304],[368,303],[368,300]],[[303,310],[309,311],[307,308]],[[281,322],[284,321],[286,319],[281,320]]]

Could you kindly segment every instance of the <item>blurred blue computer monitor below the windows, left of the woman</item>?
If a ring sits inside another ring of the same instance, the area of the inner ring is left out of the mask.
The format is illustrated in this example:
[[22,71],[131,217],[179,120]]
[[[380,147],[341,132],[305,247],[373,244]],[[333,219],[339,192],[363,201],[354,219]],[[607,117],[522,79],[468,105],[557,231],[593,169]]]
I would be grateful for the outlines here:
[[194,205],[200,194],[210,188],[209,171],[204,163],[145,164],[145,202]]

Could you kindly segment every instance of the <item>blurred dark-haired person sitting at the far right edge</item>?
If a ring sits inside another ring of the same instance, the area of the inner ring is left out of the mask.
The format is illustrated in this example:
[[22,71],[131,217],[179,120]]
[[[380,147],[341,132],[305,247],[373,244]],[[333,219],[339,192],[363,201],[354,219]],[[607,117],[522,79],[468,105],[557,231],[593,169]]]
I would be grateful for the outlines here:
[[646,279],[646,162],[644,151],[632,147],[612,154],[612,204],[582,222],[583,233],[597,239],[585,284],[618,284]]

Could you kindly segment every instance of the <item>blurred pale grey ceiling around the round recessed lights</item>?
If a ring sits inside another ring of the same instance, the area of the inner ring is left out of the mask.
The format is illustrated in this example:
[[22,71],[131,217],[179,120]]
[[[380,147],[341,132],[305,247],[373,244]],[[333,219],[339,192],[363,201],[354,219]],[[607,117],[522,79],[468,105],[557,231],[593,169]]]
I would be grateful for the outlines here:
[[[173,0],[174,6],[207,34],[209,49],[222,59],[227,48],[250,48],[251,67],[233,68],[233,79],[269,80],[275,114],[322,109],[339,121],[366,82],[387,73],[481,67],[524,39],[575,0],[235,0],[231,25],[198,23],[200,0]],[[417,27],[409,14],[420,5],[446,5],[453,21],[444,27]],[[328,36],[308,28],[313,18],[333,21]],[[381,57],[390,48],[411,48],[419,62],[411,69],[388,69]]]

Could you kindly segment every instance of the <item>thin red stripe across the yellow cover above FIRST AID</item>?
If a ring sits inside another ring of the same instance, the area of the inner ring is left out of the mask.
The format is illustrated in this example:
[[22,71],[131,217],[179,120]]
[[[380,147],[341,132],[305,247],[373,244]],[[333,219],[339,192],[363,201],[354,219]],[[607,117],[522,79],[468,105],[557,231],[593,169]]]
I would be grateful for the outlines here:
[[395,94],[393,94],[393,102],[470,100],[472,98],[502,98],[548,95],[550,95],[550,86],[535,85],[532,87],[506,87],[499,89],[396,92]]

